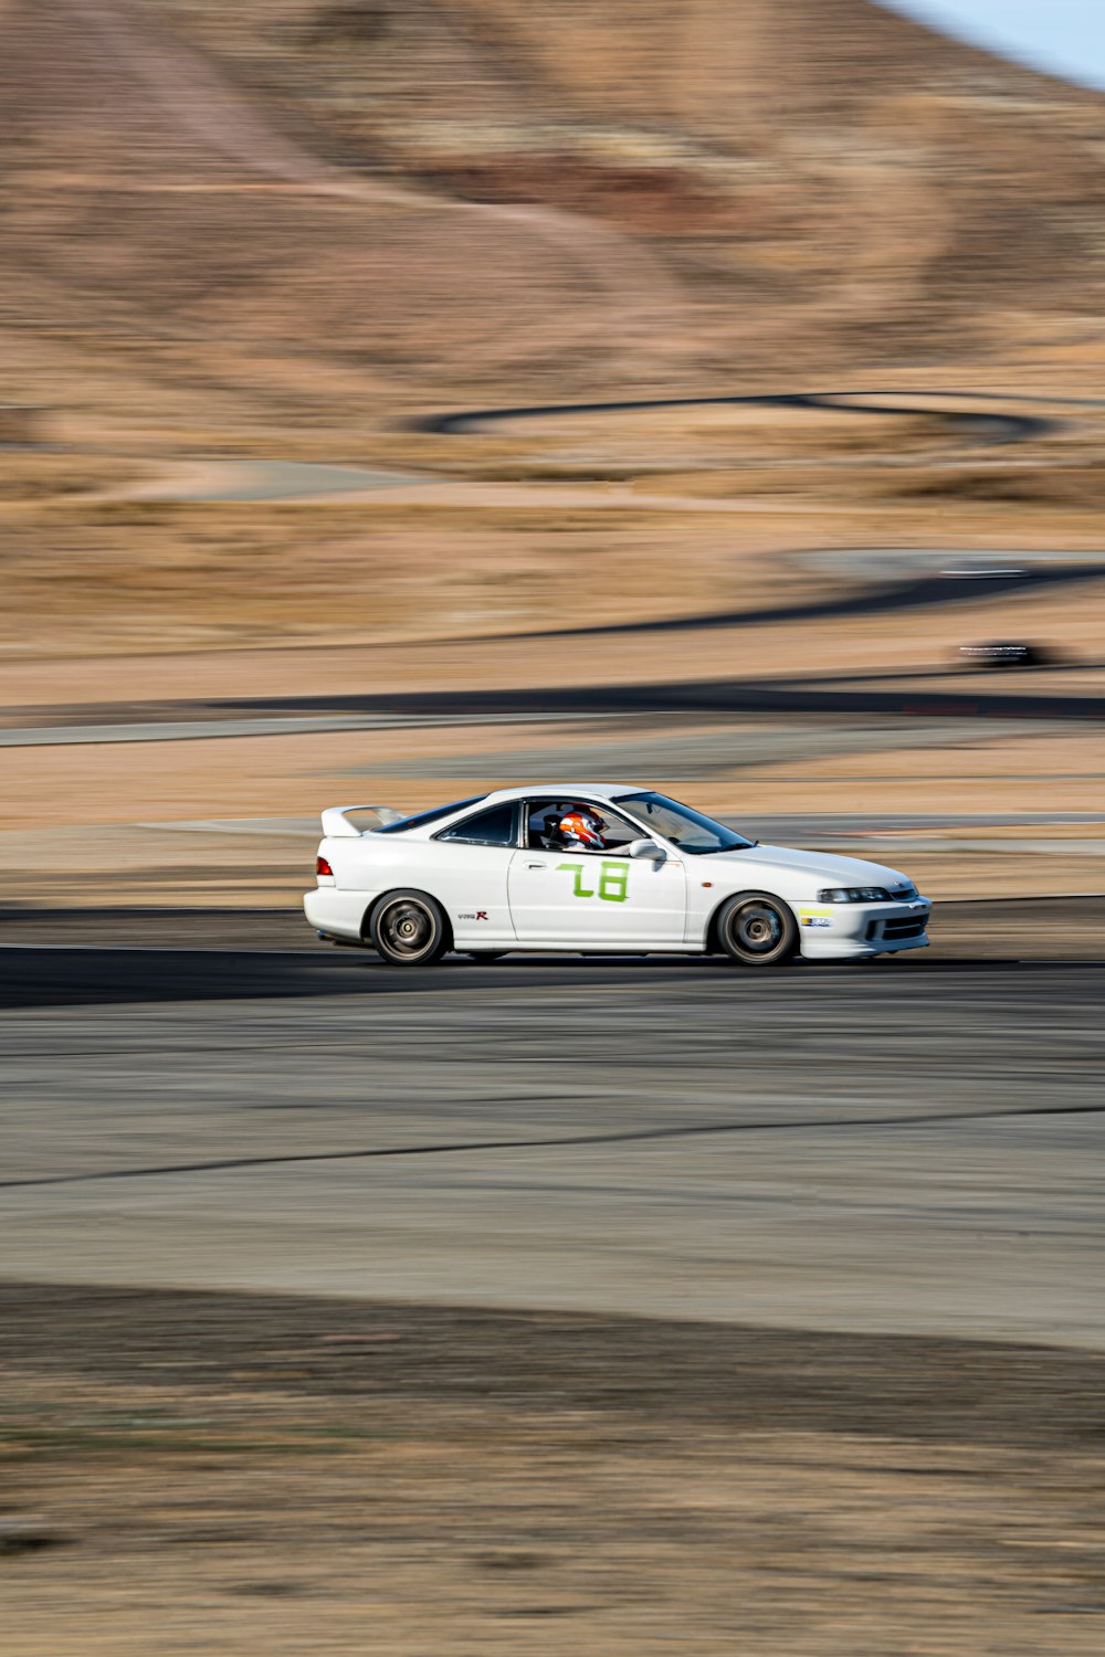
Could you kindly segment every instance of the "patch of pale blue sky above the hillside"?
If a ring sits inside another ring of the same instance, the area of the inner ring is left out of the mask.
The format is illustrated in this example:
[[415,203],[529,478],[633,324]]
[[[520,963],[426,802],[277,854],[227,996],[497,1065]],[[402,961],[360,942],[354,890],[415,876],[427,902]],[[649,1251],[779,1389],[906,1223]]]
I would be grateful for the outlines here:
[[923,23],[1105,88],[1105,0],[881,0]]

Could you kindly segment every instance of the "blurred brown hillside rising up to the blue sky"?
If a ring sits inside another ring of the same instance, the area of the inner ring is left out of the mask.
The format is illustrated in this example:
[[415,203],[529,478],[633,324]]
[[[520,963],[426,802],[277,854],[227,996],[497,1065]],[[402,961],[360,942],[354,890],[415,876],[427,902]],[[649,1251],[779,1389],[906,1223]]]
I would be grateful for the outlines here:
[[134,371],[663,386],[1105,297],[1105,103],[866,0],[12,0],[0,45],[5,323]]

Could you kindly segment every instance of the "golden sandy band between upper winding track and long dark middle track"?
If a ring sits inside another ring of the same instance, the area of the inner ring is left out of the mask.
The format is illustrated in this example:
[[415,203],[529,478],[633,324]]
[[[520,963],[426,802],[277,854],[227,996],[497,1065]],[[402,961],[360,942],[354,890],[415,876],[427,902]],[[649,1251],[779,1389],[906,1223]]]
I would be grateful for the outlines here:
[[[741,525],[678,515],[658,525],[646,514],[563,514],[537,489],[527,512],[235,510],[237,527],[186,515],[128,529],[75,514],[71,524],[36,530],[33,553],[10,582],[0,703],[197,696],[202,686],[209,694],[325,691],[353,676],[364,689],[396,691],[543,684],[563,673],[586,673],[585,683],[664,681],[731,674],[734,663],[746,676],[795,666],[908,676],[956,671],[956,646],[987,638],[1029,638],[1087,669],[1102,656],[1092,570],[1072,588],[994,597],[964,587],[956,605],[891,616],[656,638],[530,636],[800,606],[870,585],[818,575],[817,547],[943,543],[953,555],[989,547],[1009,557],[1021,537],[1057,542],[1062,562],[1067,535],[1054,515],[1034,524],[1032,514],[1006,512],[971,524],[956,514],[953,524],[948,514],[934,522],[933,514],[848,507],[827,519],[818,504],[808,515],[780,504]],[[18,520],[10,527],[27,534]],[[1088,522],[1082,527],[1100,539]]]

